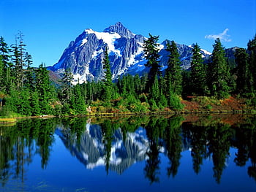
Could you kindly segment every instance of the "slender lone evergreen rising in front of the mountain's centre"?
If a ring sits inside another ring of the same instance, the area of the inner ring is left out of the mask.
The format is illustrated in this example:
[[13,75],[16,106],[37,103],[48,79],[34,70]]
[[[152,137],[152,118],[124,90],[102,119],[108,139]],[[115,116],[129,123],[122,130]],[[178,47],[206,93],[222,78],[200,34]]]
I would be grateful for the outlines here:
[[111,98],[111,92],[112,92],[112,87],[113,87],[113,82],[112,82],[112,73],[110,70],[110,61],[108,58],[108,48],[106,47],[105,52],[104,52],[104,59],[103,59],[103,69],[105,72],[105,77],[103,80],[103,99],[105,101],[110,101]]

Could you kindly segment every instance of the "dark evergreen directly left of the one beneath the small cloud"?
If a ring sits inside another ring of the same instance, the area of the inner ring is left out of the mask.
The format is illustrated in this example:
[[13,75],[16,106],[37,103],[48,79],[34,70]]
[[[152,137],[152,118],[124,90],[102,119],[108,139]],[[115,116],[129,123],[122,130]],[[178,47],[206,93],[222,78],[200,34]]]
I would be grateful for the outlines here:
[[206,72],[203,66],[202,54],[199,45],[193,47],[191,62],[191,82],[193,93],[203,96],[206,93]]

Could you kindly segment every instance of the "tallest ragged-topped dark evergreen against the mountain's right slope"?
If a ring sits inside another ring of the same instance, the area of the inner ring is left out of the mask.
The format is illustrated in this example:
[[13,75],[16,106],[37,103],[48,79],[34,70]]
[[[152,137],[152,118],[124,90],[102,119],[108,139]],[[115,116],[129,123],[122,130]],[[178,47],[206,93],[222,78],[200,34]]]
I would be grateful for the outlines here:
[[158,54],[158,39],[159,36],[152,36],[151,34],[149,34],[149,38],[143,44],[143,50],[147,60],[145,66],[149,67],[146,91],[150,91],[152,85],[154,84],[155,77],[159,77],[160,74],[161,66],[159,65],[160,55]]

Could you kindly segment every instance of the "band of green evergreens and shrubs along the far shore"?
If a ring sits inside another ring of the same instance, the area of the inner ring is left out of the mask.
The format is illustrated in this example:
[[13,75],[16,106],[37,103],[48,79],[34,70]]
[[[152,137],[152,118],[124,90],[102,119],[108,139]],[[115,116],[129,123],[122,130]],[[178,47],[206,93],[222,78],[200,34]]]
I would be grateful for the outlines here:
[[181,110],[181,97],[224,99],[231,94],[249,98],[256,105],[256,36],[249,40],[247,49],[236,48],[235,66],[228,64],[220,39],[215,40],[207,61],[203,61],[200,46],[193,45],[191,69],[187,71],[181,69],[174,41],[167,43],[167,69],[161,69],[158,40],[159,36],[149,34],[143,44],[148,73],[141,77],[127,74],[113,81],[106,47],[102,81],[72,85],[72,73],[67,69],[55,85],[45,64],[31,67],[32,57],[21,32],[10,47],[0,37],[0,115]]

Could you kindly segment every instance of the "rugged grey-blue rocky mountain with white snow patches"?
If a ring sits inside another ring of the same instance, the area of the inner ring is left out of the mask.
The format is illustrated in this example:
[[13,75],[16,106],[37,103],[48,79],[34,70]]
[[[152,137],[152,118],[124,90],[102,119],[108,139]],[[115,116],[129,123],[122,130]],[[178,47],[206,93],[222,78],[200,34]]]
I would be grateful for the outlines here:
[[[104,77],[102,59],[104,50],[108,47],[111,71],[113,80],[123,74],[143,74],[148,69],[144,66],[146,59],[143,54],[143,42],[146,37],[140,34],[133,34],[118,22],[113,26],[105,28],[102,32],[97,32],[91,28],[86,29],[75,41],[69,43],[64,50],[59,62],[48,69],[58,75],[70,69],[74,81],[73,84],[98,81]],[[160,64],[162,70],[166,69],[167,51],[165,50],[168,40],[159,45]],[[181,55],[181,66],[189,69],[192,46],[179,45],[178,53]],[[211,53],[201,50],[203,58],[208,58]]]

